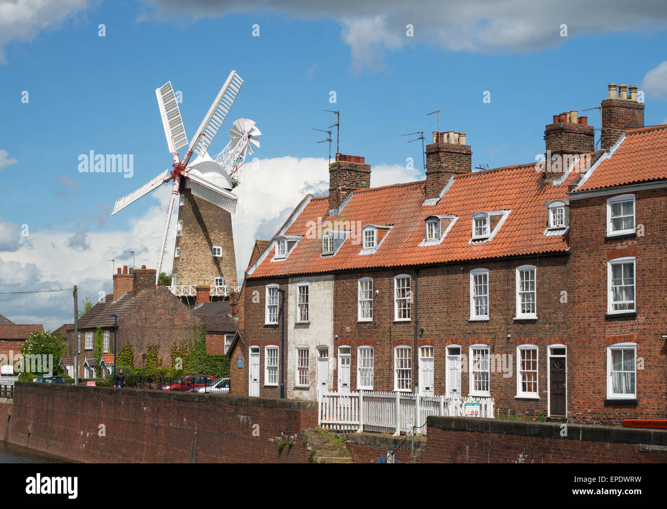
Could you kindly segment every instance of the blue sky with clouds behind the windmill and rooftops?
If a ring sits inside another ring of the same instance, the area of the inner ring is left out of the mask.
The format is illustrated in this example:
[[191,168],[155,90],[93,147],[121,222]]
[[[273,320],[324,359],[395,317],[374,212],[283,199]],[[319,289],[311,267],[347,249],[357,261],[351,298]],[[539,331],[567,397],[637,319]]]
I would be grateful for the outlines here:
[[[287,0],[271,11],[199,0],[179,11],[171,0],[46,0],[31,12],[25,0],[0,0],[0,292],[79,284],[97,296],[111,290],[107,260],[131,262],[123,251],[132,248],[137,266],[155,266],[166,191],[109,214],[115,199],[171,166],[155,100],[167,80],[183,93],[189,137],[229,71],[245,81],[209,151],[224,147],[234,119],[261,129],[234,218],[241,273],[253,239],[270,237],[306,192],[327,189],[327,144],[312,131],[334,122],[323,109],[341,111],[341,151],[366,157],[372,185],[423,178],[421,144],[401,135],[429,136],[436,118],[426,113],[436,109],[442,131],[468,134],[474,167],[534,161],[544,125],[562,111],[588,113],[599,128],[598,111],[582,110],[599,106],[612,81],[645,92],[646,125],[667,123],[659,3],[629,12],[592,2],[584,12],[564,2],[556,12],[471,2],[459,17],[451,15],[457,3],[396,3],[396,11],[374,3],[317,1],[304,12]],[[133,155],[133,177],[79,173],[79,155],[91,150]],[[1,314],[49,328],[71,321],[67,306],[62,296],[0,296]]]

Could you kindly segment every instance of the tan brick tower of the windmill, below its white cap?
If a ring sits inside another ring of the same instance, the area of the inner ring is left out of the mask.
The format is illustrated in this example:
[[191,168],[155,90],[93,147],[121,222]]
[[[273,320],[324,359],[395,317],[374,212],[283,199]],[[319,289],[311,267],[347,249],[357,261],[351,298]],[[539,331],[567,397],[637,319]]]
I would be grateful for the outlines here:
[[[178,208],[178,219],[183,221],[183,235],[176,237],[175,244],[181,252],[173,258],[172,270],[177,284],[213,286],[216,276],[231,284],[237,278],[231,215],[189,189],[181,195],[185,204]],[[213,256],[213,246],[222,248],[222,256]]]

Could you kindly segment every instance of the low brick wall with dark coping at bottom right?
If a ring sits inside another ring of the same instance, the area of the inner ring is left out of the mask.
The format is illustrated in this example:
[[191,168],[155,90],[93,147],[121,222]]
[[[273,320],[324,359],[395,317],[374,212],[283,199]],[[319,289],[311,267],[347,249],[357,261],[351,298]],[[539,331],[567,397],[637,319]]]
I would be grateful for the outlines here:
[[667,431],[429,417],[418,463],[664,463]]

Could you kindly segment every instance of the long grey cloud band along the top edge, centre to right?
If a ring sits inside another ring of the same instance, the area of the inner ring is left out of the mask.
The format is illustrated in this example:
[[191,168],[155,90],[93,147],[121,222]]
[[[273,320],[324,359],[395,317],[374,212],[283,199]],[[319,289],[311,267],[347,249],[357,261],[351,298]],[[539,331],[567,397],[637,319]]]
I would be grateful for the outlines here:
[[[269,11],[296,19],[326,17],[342,24],[341,37],[350,46],[352,64],[383,67],[386,51],[410,44],[436,45],[449,51],[524,53],[564,43],[568,37],[646,30],[667,24],[667,3],[650,8],[626,0],[145,0],[158,17],[182,22],[230,13]],[[144,19],[147,19],[143,15]],[[408,37],[407,25],[414,36]],[[567,25],[568,37],[561,37]]]

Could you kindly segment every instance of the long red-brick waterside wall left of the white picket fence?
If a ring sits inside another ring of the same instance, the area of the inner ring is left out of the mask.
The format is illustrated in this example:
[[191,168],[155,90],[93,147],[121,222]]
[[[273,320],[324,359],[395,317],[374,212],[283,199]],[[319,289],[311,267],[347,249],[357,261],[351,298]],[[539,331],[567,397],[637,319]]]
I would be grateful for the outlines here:
[[29,382],[0,412],[0,440],[81,462],[306,463],[317,425],[313,402]]

